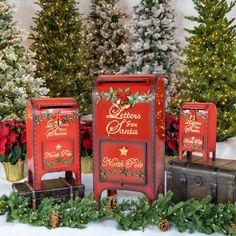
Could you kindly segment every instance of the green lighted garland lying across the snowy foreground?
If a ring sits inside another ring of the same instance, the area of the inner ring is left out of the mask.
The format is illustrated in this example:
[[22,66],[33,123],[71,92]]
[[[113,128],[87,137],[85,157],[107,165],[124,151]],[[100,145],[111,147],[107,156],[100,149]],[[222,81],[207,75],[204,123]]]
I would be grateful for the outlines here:
[[[36,211],[28,207],[28,199],[13,192],[9,197],[0,197],[0,215],[7,213],[7,221],[18,220],[21,223],[50,227],[52,212],[60,216],[60,227],[84,228],[89,222],[114,219],[120,230],[144,230],[148,225],[158,225],[167,219],[179,232],[195,231],[211,234],[236,235],[236,204],[213,204],[211,197],[201,201],[190,199],[174,203],[173,193],[149,204],[146,197],[136,200],[123,200],[113,210],[106,206],[109,198],[101,204],[93,200],[92,194],[83,199],[76,198],[60,205],[46,198]],[[234,226],[234,227],[233,227]]]

